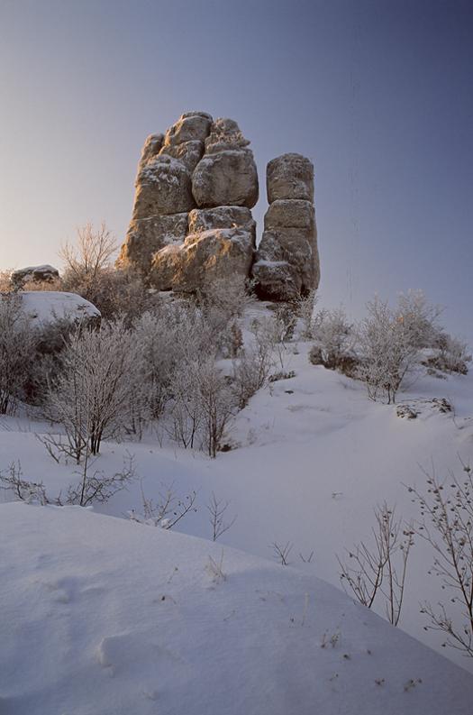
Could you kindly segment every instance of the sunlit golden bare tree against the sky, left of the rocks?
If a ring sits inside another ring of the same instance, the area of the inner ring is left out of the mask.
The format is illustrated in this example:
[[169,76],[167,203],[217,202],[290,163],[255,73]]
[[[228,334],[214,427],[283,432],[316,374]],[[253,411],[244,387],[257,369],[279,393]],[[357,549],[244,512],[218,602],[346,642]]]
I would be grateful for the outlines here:
[[104,221],[97,229],[87,223],[77,228],[77,245],[64,243],[59,257],[64,261],[66,271],[70,271],[77,280],[94,280],[110,264],[117,248],[114,234]]

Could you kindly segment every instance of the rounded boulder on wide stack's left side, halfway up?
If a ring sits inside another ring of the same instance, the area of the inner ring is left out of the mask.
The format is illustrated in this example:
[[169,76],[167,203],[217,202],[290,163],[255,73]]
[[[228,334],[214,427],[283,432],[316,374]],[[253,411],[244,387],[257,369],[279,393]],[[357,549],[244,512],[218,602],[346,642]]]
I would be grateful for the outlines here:
[[181,161],[159,154],[141,168],[136,184],[134,220],[182,214],[195,206],[190,173]]

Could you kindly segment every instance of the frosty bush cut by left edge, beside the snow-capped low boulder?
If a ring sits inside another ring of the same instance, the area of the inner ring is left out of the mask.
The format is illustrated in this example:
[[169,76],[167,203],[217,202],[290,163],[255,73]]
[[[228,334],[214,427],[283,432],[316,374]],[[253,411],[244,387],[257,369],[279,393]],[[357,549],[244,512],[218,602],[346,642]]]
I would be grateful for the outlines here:
[[25,399],[32,380],[37,331],[23,313],[22,300],[15,293],[0,295],[0,414],[14,409],[17,399]]

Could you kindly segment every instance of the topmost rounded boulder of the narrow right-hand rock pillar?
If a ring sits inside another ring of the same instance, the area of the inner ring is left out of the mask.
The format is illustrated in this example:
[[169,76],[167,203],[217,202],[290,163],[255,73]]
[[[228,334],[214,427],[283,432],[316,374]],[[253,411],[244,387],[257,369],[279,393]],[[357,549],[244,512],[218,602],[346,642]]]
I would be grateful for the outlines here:
[[283,198],[314,200],[314,164],[302,154],[283,154],[266,171],[268,204]]

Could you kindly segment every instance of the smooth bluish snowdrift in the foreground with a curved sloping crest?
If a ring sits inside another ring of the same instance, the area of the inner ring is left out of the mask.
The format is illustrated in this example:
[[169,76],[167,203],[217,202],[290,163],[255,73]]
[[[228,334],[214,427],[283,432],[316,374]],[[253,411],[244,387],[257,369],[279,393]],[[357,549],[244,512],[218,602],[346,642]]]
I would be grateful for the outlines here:
[[8,715],[468,715],[473,679],[296,568],[88,509],[0,505]]

